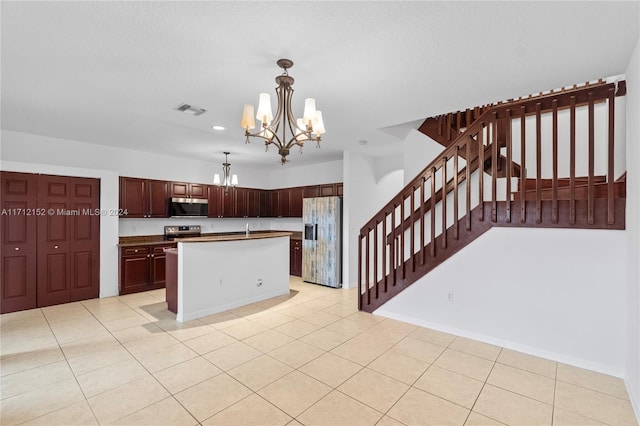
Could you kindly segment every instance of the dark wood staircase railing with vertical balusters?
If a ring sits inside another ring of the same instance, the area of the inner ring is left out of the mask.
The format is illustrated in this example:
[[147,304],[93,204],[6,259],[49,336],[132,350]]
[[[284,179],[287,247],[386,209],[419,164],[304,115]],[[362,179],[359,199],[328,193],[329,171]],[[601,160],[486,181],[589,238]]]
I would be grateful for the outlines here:
[[[598,84],[484,109],[360,230],[359,309],[377,309],[493,226],[624,229],[624,179],[614,180],[614,101],[622,94],[624,82]],[[604,177],[595,170],[600,102],[608,105]],[[587,110],[587,164],[576,159],[578,108]],[[566,138],[558,136],[561,109],[569,112]],[[546,157],[543,111],[552,123]],[[568,177],[561,178],[564,151]]]

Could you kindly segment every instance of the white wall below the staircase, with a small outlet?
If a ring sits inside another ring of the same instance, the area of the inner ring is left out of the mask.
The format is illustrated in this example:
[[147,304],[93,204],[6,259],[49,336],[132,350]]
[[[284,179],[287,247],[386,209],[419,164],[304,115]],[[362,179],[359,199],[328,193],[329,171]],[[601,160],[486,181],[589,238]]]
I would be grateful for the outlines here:
[[624,240],[493,228],[375,313],[621,376]]

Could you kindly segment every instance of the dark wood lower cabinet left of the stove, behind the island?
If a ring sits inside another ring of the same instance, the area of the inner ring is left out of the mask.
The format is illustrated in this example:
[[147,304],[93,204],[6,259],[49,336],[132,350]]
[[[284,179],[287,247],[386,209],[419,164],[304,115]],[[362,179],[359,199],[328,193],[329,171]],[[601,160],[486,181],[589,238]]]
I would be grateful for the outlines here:
[[157,244],[120,248],[120,294],[164,288],[166,283],[164,249],[176,244]]

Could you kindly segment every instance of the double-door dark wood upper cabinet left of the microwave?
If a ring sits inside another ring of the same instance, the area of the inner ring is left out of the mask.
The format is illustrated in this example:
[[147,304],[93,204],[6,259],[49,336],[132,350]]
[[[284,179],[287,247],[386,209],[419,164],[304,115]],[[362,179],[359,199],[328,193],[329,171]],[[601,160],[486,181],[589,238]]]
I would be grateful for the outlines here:
[[122,218],[169,216],[169,182],[164,180],[120,178]]

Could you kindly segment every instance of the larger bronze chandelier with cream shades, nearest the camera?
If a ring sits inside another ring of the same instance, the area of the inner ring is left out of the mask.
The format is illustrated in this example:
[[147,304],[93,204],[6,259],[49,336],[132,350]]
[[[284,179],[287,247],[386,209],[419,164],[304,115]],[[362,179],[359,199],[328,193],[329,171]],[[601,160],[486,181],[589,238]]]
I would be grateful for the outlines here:
[[278,147],[278,154],[284,164],[287,162],[287,155],[294,145],[298,145],[302,150],[304,142],[311,140],[316,142],[316,148],[320,148],[320,137],[325,129],[322,122],[322,112],[316,110],[315,99],[305,99],[302,118],[294,118],[291,111],[291,97],[293,96],[291,86],[293,86],[294,80],[287,72],[293,66],[293,61],[280,59],[277,64],[284,71],[282,75],[276,77],[278,110],[275,119],[271,110],[271,97],[267,93],[261,93],[258,112],[255,116],[262,122],[260,130],[251,133],[251,130],[256,127],[253,119],[254,109],[251,104],[244,105],[240,125],[245,129],[246,143],[249,143],[249,137],[262,138],[264,139],[265,151],[269,150],[270,144],[274,144]]

